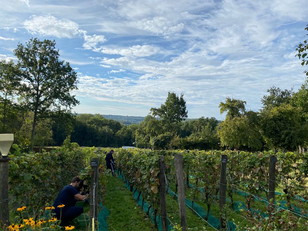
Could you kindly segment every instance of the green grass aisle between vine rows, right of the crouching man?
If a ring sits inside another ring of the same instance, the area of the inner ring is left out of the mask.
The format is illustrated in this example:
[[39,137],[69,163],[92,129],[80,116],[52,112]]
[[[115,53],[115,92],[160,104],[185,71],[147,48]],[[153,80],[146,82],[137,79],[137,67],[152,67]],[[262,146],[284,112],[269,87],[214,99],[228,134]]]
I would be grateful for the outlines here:
[[109,209],[109,231],[154,231],[150,218],[138,206],[132,192],[125,188],[118,177],[108,177],[105,206]]

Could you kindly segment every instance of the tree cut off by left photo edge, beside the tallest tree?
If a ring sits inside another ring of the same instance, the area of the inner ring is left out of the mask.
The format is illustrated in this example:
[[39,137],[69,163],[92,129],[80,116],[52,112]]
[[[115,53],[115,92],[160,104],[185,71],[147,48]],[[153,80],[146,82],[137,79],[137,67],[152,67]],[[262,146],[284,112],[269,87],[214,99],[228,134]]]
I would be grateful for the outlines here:
[[21,87],[21,77],[13,61],[0,60],[0,103],[2,115],[2,132],[6,132],[6,117],[8,107],[12,106],[12,98],[18,95]]

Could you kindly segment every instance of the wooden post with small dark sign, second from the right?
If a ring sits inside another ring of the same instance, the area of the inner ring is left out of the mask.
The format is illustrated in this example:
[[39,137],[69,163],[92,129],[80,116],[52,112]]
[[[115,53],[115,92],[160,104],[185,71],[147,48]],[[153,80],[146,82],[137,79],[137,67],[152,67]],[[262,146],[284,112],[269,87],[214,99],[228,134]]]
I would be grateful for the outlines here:
[[227,155],[221,155],[221,168],[220,168],[220,182],[219,182],[219,222],[220,229],[226,229],[226,212],[224,207],[226,205],[226,188],[227,188],[227,180],[226,180],[226,169],[227,169],[228,157]]

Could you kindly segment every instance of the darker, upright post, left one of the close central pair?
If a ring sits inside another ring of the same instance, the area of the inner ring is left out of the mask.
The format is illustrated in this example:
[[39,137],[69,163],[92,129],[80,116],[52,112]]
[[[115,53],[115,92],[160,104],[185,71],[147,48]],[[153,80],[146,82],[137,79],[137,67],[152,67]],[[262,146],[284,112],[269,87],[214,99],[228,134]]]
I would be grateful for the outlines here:
[[166,181],[165,181],[165,157],[159,157],[159,199],[161,230],[168,231],[167,209],[166,209]]

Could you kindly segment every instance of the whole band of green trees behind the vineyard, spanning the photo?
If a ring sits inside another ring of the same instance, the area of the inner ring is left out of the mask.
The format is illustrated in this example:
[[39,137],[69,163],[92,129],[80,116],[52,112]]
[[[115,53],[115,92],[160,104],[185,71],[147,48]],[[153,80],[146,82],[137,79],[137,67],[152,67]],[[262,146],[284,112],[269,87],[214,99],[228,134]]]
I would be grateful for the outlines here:
[[[302,65],[308,65],[307,44],[305,40],[296,48]],[[79,104],[70,94],[77,90],[77,75],[69,63],[59,60],[55,41],[34,38],[26,45],[18,43],[14,55],[17,63],[0,60],[0,131],[14,133],[15,143],[24,149],[59,146],[68,136],[90,147],[308,148],[308,77],[298,91],[268,89],[259,111],[247,110],[242,99],[227,97],[219,104],[221,114],[226,113],[220,123],[214,117],[186,120],[184,95],[168,92],[166,101],[152,107],[140,124],[125,125],[100,114],[72,114]]]

